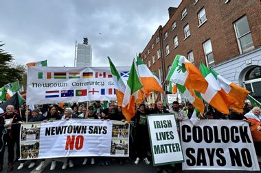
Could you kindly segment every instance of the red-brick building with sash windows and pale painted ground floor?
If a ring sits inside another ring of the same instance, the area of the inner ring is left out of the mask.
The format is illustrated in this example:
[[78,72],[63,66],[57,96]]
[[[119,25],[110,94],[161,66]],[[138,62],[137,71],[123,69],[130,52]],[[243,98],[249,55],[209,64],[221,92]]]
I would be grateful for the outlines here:
[[[261,2],[183,0],[169,8],[141,59],[164,83],[176,55],[203,62],[261,100]],[[152,94],[152,97],[153,96]]]

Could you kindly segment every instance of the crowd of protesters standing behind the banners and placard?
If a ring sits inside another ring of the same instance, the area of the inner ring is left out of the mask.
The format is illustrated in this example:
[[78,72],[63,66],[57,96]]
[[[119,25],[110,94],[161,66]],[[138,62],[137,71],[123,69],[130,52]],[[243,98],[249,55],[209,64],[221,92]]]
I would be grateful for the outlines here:
[[[128,161],[129,163],[139,164],[140,161],[144,161],[147,165],[150,164],[150,140],[148,134],[148,125],[146,116],[148,114],[174,114],[177,122],[184,119],[192,118],[194,113],[194,107],[191,103],[180,104],[178,101],[174,101],[170,107],[164,106],[161,101],[155,105],[141,103],[137,105],[136,115],[131,120],[131,135],[130,135],[130,157],[117,158],[120,164]],[[245,120],[249,122],[251,134],[253,135],[253,142],[258,155],[258,161],[260,161],[261,151],[261,116],[260,108],[252,107],[250,102],[246,102],[244,113],[238,114],[231,110],[229,115],[225,115],[216,111],[213,107],[205,105],[205,113],[197,114],[199,119],[225,119],[225,120]],[[0,116],[0,171],[3,170],[3,157],[5,153],[5,144],[8,147],[8,172],[14,169],[14,163],[19,163],[20,158],[20,126],[23,122],[48,122],[54,120],[69,120],[70,118],[79,119],[101,119],[101,120],[120,120],[124,121],[125,117],[122,114],[122,107],[118,107],[114,102],[109,103],[109,106],[102,105],[100,101],[93,103],[75,103],[73,105],[37,105],[34,109],[29,109],[25,105],[21,107],[20,111],[15,111],[14,106],[8,105],[6,111]],[[179,126],[179,123],[177,123]],[[16,150],[14,152],[14,146]],[[14,159],[16,155],[16,159]],[[114,160],[110,157],[91,157],[85,158],[62,158],[59,161],[63,161],[62,169],[73,167],[73,161],[76,159],[82,159],[82,165],[86,165],[87,161],[91,164],[98,163],[99,165],[110,165]],[[89,160],[88,160],[89,159]],[[27,168],[34,168],[37,160],[27,161],[30,162]],[[53,159],[49,170],[56,169],[57,159]],[[25,161],[20,161],[18,170],[25,167]],[[159,166],[158,172],[169,172],[173,169],[174,165],[170,167]],[[42,159],[40,164],[37,165],[36,170],[43,170],[45,168],[45,160]]]

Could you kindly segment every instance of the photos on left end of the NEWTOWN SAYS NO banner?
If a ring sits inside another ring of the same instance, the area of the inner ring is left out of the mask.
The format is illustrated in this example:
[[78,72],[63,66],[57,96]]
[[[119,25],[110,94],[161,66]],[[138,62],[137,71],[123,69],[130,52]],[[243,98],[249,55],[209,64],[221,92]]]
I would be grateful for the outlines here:
[[21,159],[38,159],[41,122],[21,125]]

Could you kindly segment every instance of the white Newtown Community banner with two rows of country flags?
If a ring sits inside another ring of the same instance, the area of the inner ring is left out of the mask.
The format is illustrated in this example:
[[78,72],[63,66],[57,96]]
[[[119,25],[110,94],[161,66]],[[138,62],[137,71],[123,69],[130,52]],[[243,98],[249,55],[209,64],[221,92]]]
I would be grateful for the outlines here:
[[[130,67],[117,67],[126,82]],[[29,66],[27,104],[116,100],[109,67]]]

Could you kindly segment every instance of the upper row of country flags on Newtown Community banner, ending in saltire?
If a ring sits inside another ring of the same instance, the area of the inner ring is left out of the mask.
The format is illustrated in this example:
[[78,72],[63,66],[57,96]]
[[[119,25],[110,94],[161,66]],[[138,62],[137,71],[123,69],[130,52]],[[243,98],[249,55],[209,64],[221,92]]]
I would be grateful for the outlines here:
[[[106,74],[106,72],[46,72],[44,77],[44,72],[38,72],[38,79],[80,79],[82,78],[112,78],[113,75]],[[121,77],[128,77],[129,71],[120,72]]]

